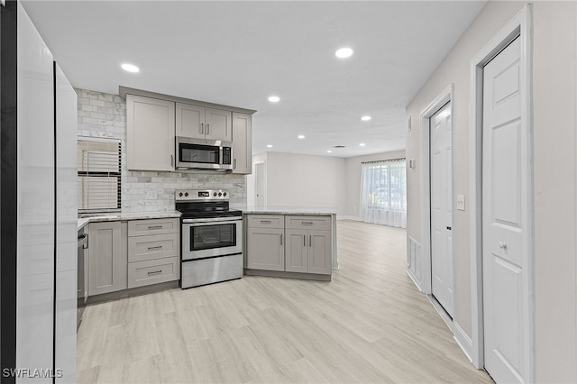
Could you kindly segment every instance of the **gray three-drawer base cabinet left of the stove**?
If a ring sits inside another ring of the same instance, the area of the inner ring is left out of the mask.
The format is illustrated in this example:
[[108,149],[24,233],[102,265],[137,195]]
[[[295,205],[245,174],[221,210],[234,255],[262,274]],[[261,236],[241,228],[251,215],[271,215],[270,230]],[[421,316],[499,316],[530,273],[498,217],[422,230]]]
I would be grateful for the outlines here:
[[128,288],[180,279],[178,218],[128,222]]

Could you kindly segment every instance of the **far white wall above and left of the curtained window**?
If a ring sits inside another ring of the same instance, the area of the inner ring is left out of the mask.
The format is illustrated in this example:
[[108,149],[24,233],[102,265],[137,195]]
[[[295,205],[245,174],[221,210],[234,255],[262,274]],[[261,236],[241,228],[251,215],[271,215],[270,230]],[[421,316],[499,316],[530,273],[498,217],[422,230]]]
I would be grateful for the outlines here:
[[361,177],[363,161],[391,160],[404,157],[405,151],[393,151],[346,159],[346,203],[343,209],[343,215],[346,215],[351,219],[361,219],[359,203],[361,202]]

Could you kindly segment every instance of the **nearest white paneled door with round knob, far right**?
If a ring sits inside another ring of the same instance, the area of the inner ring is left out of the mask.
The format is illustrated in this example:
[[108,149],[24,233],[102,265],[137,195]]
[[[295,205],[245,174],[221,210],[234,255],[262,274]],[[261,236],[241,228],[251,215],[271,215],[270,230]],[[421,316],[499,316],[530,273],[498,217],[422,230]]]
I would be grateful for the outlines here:
[[485,368],[523,382],[528,367],[527,132],[521,121],[520,39],[484,68],[482,257]]

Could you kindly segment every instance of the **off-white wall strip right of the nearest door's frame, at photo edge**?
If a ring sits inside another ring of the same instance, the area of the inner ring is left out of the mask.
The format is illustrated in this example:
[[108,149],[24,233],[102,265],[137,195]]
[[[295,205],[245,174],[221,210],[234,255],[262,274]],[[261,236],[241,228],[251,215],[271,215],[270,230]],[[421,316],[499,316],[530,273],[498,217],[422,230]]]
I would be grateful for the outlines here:
[[577,382],[577,3],[533,10],[536,379]]

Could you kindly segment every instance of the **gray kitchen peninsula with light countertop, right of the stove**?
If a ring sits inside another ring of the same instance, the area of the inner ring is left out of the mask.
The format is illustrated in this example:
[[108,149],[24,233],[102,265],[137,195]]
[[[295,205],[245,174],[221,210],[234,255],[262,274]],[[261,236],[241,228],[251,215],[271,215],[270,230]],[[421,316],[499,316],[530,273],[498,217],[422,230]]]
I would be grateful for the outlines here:
[[336,209],[249,206],[243,215],[245,275],[331,280]]

